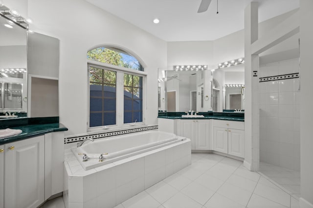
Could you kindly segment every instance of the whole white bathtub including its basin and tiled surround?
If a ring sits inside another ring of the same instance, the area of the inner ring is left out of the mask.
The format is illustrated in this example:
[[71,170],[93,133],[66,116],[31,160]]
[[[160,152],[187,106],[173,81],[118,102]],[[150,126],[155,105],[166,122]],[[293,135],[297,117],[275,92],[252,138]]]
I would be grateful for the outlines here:
[[[88,161],[78,153],[86,153]],[[108,153],[103,162],[101,153]],[[114,208],[190,164],[190,139],[172,133],[140,132],[88,141],[65,150],[64,203],[66,208]]]

